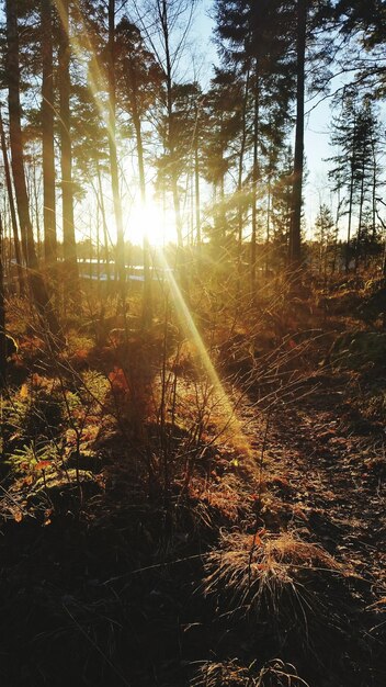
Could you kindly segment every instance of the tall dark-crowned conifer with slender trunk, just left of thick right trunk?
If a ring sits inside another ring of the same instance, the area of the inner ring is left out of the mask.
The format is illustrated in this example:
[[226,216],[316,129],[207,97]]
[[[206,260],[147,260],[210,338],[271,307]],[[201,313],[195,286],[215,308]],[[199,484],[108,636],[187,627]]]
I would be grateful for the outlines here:
[[[280,0],[216,0],[216,34],[226,65],[249,75],[250,102],[246,101],[246,149],[252,149],[249,174],[251,203],[251,289],[256,290],[258,200],[262,200],[264,148],[283,144],[283,122],[288,120],[293,88],[292,8]],[[264,121],[269,123],[264,126]],[[265,132],[265,135],[264,135]],[[275,132],[275,133],[274,133]],[[264,143],[268,138],[268,146]],[[270,182],[269,182],[270,183]],[[259,191],[258,191],[259,188]],[[270,191],[268,191],[270,194]],[[270,201],[266,203],[270,207]],[[268,211],[269,212],[269,211]],[[268,217],[269,226],[269,217]]]

